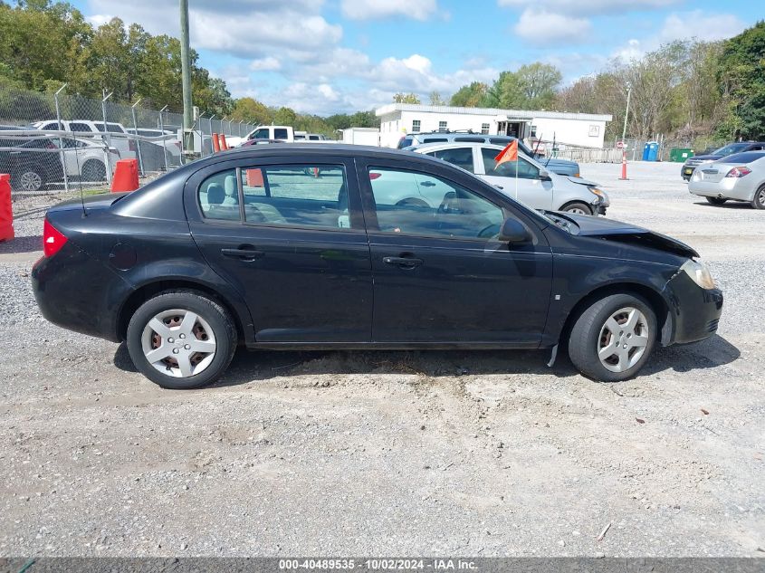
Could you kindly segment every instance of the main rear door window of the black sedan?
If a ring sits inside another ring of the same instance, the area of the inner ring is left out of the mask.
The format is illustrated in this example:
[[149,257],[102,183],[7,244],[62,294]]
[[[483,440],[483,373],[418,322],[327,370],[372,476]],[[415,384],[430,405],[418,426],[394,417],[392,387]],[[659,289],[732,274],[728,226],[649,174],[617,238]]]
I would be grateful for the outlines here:
[[339,165],[274,165],[240,171],[247,223],[349,229],[348,181]]

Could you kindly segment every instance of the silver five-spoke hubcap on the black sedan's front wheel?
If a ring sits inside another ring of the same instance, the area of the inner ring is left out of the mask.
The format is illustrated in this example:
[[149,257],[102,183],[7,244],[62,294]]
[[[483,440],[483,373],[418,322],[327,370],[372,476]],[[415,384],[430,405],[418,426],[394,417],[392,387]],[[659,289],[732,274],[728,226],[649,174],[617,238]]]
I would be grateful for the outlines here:
[[598,337],[598,358],[611,372],[625,372],[634,367],[648,345],[648,320],[635,307],[614,312]]

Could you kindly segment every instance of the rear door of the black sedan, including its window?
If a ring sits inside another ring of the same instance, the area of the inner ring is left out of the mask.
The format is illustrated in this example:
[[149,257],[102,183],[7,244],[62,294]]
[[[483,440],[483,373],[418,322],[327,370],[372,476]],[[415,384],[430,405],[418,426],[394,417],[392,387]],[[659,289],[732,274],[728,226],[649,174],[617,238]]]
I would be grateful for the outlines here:
[[356,181],[352,161],[326,156],[241,158],[189,179],[191,234],[242,292],[258,343],[370,340],[372,277]]

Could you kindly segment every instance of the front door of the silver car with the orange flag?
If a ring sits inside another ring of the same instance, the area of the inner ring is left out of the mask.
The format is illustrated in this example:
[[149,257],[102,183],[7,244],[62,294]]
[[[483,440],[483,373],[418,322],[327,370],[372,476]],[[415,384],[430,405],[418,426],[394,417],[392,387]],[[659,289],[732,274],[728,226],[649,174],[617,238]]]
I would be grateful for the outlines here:
[[[504,195],[518,199],[532,209],[552,209],[554,203],[552,181],[540,177],[540,168],[518,154],[518,161],[507,161],[497,166],[494,159],[497,148],[481,148],[476,173],[497,186]],[[518,177],[516,177],[516,166]]]

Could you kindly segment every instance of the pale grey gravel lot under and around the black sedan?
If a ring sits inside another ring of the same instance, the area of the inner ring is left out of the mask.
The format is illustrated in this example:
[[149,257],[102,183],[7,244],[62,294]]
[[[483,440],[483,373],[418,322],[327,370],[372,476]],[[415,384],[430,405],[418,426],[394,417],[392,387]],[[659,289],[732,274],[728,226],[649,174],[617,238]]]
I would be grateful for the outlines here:
[[0,555],[765,555],[765,213],[692,198],[679,168],[582,166],[726,296],[719,336],[612,385],[543,352],[242,351],[215,387],[162,390],[41,319],[42,219],[17,221]]

